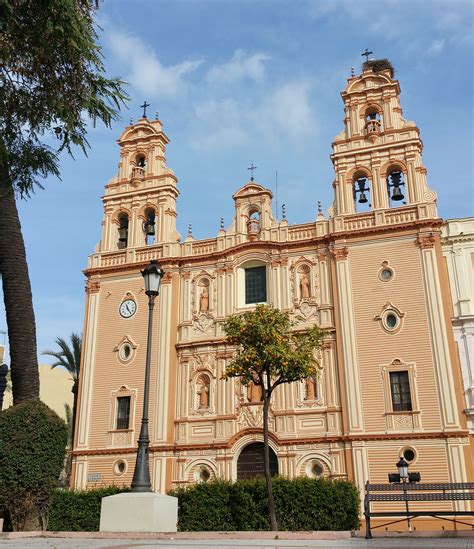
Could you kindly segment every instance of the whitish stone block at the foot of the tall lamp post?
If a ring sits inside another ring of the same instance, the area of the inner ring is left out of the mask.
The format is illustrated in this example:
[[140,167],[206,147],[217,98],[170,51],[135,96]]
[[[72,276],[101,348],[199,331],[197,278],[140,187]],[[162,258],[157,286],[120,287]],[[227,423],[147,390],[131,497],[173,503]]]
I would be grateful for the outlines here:
[[176,532],[178,498],[127,492],[102,498],[101,532]]

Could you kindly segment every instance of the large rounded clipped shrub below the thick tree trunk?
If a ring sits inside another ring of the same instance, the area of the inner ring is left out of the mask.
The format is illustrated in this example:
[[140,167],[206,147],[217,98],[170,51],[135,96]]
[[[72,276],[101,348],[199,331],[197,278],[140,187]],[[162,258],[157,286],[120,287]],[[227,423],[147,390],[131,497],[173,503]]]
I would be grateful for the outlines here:
[[0,414],[0,507],[8,511],[14,530],[45,527],[66,440],[66,424],[40,400]]

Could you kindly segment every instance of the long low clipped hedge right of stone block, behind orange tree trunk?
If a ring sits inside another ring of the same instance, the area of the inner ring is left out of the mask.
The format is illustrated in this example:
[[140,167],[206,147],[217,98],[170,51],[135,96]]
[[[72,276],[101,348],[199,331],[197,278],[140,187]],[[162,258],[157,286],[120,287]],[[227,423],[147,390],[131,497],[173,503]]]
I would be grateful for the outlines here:
[[[359,493],[344,480],[275,478],[280,530],[353,530],[359,527]],[[269,530],[264,479],[214,481],[169,492],[179,499],[178,530]]]

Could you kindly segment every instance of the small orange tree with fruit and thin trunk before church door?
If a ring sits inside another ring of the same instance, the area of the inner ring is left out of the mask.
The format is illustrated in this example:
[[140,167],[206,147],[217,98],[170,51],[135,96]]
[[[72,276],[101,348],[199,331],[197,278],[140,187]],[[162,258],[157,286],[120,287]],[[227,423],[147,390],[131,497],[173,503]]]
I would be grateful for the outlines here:
[[233,315],[224,323],[226,341],[237,348],[237,353],[222,378],[239,377],[243,385],[254,383],[262,390],[264,467],[272,530],[278,530],[268,447],[272,394],[278,385],[318,375],[320,365],[315,351],[324,336],[324,331],[317,326],[304,332],[294,328],[289,312],[267,305],[257,305],[253,311]]

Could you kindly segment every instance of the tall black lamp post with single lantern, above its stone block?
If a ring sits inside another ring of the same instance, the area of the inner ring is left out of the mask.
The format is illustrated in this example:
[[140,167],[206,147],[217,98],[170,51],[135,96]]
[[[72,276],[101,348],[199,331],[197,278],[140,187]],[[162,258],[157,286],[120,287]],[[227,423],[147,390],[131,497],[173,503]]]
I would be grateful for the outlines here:
[[145,279],[145,293],[148,296],[148,337],[146,346],[145,386],[143,389],[142,426],[140,429],[140,436],[138,437],[137,460],[135,462],[131,488],[132,492],[151,492],[150,467],[148,463],[148,447],[150,445],[150,437],[148,434],[148,405],[150,400],[153,308],[155,306],[155,298],[160,291],[160,282],[164,275],[164,271],[158,267],[156,261],[151,261],[150,265],[143,269],[141,273]]

